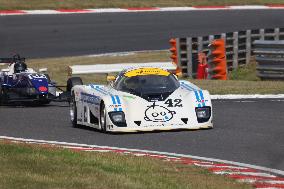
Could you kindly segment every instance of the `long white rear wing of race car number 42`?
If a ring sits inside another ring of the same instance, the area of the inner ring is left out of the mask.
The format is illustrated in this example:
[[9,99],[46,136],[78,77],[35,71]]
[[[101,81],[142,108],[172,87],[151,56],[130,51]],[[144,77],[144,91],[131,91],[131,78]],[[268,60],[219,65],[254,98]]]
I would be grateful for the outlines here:
[[121,63],[121,64],[95,64],[69,66],[69,75],[76,74],[108,74],[117,73],[125,69],[139,67],[157,67],[173,71],[177,66],[172,62],[149,62],[149,63]]

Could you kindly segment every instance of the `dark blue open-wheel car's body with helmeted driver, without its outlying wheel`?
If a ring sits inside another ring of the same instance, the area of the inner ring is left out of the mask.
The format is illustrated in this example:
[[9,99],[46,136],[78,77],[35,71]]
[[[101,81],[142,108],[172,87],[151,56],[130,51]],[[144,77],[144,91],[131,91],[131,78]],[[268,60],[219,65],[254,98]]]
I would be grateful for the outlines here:
[[37,102],[48,104],[56,99],[56,86],[48,74],[35,72],[28,68],[25,58],[14,55],[12,58],[0,58],[1,63],[8,63],[0,71],[0,102]]

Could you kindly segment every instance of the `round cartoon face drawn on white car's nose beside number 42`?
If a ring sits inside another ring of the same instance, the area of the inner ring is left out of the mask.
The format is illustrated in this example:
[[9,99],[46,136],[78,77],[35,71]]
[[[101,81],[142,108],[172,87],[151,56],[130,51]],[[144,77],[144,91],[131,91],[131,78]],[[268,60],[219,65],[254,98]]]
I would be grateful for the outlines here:
[[176,114],[175,111],[171,111],[164,106],[156,105],[154,102],[153,105],[145,110],[144,119],[152,122],[167,122],[173,118],[174,114]]

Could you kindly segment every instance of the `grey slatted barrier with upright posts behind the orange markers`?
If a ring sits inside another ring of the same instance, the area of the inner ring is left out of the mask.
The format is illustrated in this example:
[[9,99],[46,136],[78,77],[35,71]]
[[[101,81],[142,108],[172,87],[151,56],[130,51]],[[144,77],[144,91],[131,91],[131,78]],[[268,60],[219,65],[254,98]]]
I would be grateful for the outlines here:
[[227,68],[232,70],[239,65],[250,62],[254,40],[284,40],[284,28],[255,29],[219,35],[176,38],[178,65],[183,74],[195,77],[198,64],[197,54],[200,52],[207,54],[209,43],[220,38],[226,42]]

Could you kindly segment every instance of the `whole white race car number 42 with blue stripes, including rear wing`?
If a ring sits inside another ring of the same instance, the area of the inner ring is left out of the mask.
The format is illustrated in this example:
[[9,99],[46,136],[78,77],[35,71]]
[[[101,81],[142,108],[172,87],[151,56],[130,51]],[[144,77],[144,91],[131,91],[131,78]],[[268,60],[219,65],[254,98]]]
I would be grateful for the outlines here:
[[[153,65],[159,65],[153,67]],[[71,66],[72,74],[108,73],[108,85],[83,85],[71,77],[70,117],[74,127],[103,132],[136,132],[212,128],[209,92],[178,80],[165,64]],[[161,68],[162,67],[162,68]]]

